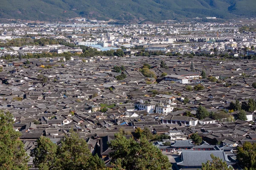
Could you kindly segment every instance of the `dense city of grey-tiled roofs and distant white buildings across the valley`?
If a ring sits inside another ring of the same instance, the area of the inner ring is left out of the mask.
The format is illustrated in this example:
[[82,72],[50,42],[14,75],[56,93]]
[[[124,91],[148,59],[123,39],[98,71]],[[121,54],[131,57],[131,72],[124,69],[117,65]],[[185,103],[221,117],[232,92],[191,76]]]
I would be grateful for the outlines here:
[[238,147],[256,143],[255,47],[241,21],[3,23],[0,110],[30,169],[40,137],[58,145],[71,129],[109,168],[116,134],[144,130],[174,170],[211,155],[241,169]]

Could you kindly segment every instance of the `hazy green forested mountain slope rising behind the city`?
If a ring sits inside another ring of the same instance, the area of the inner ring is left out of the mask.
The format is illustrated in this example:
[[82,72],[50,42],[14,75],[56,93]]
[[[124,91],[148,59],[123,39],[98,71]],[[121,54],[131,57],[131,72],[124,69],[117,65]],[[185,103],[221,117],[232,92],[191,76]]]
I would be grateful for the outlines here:
[[1,0],[0,18],[56,21],[256,17],[256,0]]

